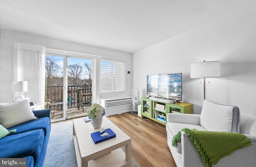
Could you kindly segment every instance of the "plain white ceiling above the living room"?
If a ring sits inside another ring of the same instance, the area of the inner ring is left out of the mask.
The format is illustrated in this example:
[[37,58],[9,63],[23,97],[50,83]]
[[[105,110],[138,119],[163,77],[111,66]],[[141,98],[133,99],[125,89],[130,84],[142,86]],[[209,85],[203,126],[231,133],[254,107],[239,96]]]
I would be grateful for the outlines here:
[[134,53],[255,0],[0,0],[0,28]]

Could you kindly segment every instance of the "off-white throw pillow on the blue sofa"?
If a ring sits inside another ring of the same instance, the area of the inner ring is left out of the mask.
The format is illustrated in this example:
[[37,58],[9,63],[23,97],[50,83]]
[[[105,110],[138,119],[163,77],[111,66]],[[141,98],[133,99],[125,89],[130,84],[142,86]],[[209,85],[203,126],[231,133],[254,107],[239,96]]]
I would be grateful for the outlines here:
[[11,103],[0,103],[0,124],[5,128],[33,119],[36,119],[36,117],[30,108],[28,99]]

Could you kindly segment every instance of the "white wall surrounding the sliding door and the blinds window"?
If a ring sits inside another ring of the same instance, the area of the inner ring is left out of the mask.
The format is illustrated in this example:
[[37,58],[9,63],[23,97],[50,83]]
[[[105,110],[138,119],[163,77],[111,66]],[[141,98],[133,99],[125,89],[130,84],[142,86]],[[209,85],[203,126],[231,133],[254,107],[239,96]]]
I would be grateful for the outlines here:
[[[127,71],[132,71],[132,54],[117,50],[110,50],[96,46],[79,44],[65,40],[58,40],[44,36],[26,34],[6,29],[1,29],[1,50],[0,50],[0,103],[13,101],[10,83],[13,81],[13,46],[14,42],[35,44],[50,49],[78,52],[84,54],[99,55],[109,58],[121,58],[127,62]],[[100,95],[100,59],[96,58],[96,103],[100,103],[100,97],[113,97],[132,95],[132,74],[127,74],[127,93],[108,93]]]

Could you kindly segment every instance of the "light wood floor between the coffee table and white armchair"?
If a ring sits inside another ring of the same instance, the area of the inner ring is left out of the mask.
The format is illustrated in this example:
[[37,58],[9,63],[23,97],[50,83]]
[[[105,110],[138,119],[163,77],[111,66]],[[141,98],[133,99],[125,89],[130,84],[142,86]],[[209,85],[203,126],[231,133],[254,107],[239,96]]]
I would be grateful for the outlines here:
[[132,139],[132,159],[140,167],[176,167],[167,145],[165,125],[131,113],[109,116]]

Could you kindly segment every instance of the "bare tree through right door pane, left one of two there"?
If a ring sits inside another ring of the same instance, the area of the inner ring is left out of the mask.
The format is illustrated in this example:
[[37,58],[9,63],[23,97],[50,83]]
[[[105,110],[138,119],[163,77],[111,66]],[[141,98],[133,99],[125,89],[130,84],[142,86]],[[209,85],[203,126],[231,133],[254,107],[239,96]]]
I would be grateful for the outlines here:
[[82,75],[83,66],[80,64],[70,64],[68,65],[68,77],[72,78],[73,84],[77,85],[77,81]]

